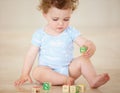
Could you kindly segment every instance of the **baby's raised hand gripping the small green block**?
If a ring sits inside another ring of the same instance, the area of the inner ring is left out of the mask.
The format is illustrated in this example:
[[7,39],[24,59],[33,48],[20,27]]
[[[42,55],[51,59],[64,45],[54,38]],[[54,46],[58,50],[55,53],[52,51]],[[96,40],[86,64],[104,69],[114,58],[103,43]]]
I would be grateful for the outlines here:
[[87,41],[84,46],[86,46],[87,51],[83,53],[83,56],[90,58],[95,53],[96,47],[92,41]]

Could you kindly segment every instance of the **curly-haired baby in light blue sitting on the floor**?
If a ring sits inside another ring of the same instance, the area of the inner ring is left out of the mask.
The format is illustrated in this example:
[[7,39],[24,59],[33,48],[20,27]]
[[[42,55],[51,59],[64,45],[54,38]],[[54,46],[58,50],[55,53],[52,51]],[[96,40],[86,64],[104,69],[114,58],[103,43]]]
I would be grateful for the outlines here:
[[[94,43],[69,25],[78,3],[79,0],[41,0],[39,8],[48,23],[33,34],[21,76],[15,81],[16,86],[32,82],[30,72],[37,54],[39,64],[32,76],[39,83],[72,85],[83,75],[91,88],[98,88],[109,80],[107,73],[98,75],[91,63],[90,58],[96,50]],[[87,51],[74,58],[73,43],[87,47]]]

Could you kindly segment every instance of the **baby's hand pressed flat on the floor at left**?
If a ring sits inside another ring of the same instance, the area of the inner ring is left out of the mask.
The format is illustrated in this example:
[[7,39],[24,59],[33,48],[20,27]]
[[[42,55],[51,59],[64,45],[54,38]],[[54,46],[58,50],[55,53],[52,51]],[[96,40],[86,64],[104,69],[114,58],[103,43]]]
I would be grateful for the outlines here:
[[28,75],[22,75],[18,80],[15,81],[14,85],[15,86],[21,86],[23,85],[26,81],[29,81],[32,83],[32,79]]

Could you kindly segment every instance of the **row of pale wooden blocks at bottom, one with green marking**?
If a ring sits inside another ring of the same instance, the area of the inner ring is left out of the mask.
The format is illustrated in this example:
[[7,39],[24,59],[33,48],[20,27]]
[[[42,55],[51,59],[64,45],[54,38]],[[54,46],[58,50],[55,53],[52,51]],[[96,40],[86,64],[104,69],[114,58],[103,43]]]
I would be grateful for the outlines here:
[[85,87],[84,85],[63,85],[62,92],[63,93],[84,93]]

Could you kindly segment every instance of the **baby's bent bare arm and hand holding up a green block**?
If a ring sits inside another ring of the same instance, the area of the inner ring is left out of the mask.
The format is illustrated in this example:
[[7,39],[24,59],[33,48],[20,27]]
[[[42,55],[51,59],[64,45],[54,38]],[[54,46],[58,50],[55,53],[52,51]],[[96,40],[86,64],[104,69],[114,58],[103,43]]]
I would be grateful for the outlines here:
[[86,39],[83,36],[78,36],[75,39],[75,43],[80,47],[82,47],[82,46],[87,47],[87,51],[85,53],[83,53],[83,56],[85,56],[85,57],[91,57],[96,50],[94,43],[92,41]]

